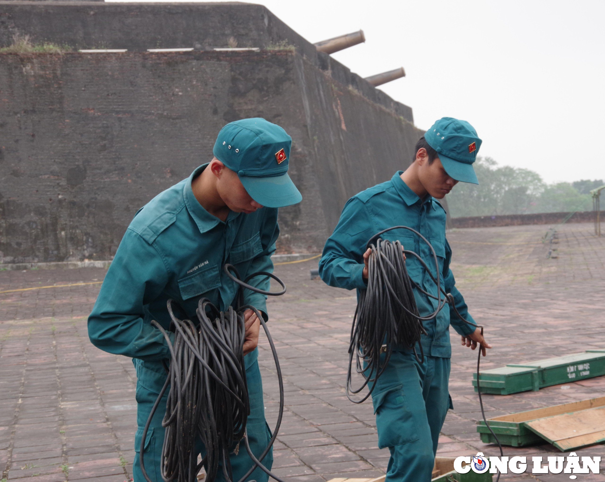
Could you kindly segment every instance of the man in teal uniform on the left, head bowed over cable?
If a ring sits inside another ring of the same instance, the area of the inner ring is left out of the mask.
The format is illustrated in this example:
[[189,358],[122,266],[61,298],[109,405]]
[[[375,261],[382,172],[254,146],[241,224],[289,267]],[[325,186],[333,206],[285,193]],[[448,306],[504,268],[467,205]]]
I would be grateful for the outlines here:
[[[234,302],[238,285],[224,273],[225,263],[235,265],[243,278],[253,272],[273,271],[270,256],[280,232],[277,208],[302,199],[287,174],[291,144],[284,129],[264,119],[227,124],[218,134],[212,161],[154,197],[126,229],[88,318],[88,334],[96,347],[132,357],[136,367],[135,482],[145,480],[140,469],[142,432],[166,380],[162,361],[170,358],[168,344],[151,320],[168,330],[166,301],[170,298],[190,319],[196,319],[195,309],[202,297],[226,310]],[[266,277],[253,278],[250,284],[269,289]],[[266,298],[250,290],[243,294],[244,304],[257,308],[267,320]],[[270,438],[258,369],[260,321],[252,310],[244,318],[250,399],[247,434],[253,454],[259,457]],[[169,336],[174,340],[173,333]],[[162,418],[167,394],[143,445],[146,472],[156,482],[162,481]],[[197,449],[204,454],[201,442]],[[270,468],[272,460],[269,452],[263,463]],[[230,461],[235,481],[252,467],[243,450],[232,454]],[[267,478],[257,468],[249,480],[266,482]],[[223,480],[221,469],[217,480]]]

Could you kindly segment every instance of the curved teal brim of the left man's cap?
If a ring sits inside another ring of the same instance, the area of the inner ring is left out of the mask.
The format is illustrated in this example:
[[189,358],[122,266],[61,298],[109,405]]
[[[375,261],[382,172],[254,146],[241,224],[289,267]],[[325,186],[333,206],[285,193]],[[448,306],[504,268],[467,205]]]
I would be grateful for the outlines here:
[[302,201],[287,172],[272,177],[241,176],[240,181],[250,197],[263,206],[284,207]]

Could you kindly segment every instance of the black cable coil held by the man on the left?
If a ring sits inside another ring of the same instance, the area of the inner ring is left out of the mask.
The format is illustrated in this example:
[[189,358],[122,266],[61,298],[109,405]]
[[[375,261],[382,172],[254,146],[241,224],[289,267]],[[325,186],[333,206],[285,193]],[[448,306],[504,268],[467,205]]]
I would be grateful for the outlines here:
[[[205,467],[206,480],[214,482],[218,474],[218,465],[221,463],[224,478],[232,482],[229,454],[237,453],[243,441],[253,464],[239,482],[244,482],[257,467],[275,480],[283,482],[262,463],[275,442],[283,417],[284,385],[280,363],[262,314],[257,308],[243,304],[243,288],[266,296],[279,296],[286,293],[286,285],[277,276],[268,272],[253,273],[241,281],[233,265],[224,265],[224,271],[229,278],[240,285],[235,299],[236,308],[229,306],[223,312],[208,299],[201,298],[196,310],[197,322],[194,323],[189,319],[177,318],[172,309],[173,301],[168,300],[167,309],[171,318],[171,327],[174,326],[175,330],[174,344],[162,325],[155,320],[151,322],[165,337],[171,359],[170,365],[165,365],[168,375],[152,406],[142,434],[140,467],[148,482],[152,481],[145,471],[145,439],[151,420],[168,385],[171,389],[162,420],[162,426],[166,429],[160,462],[163,480],[197,482],[198,472],[201,467]],[[264,291],[248,284],[250,279],[256,276],[275,279],[282,290]],[[244,311],[246,310],[252,310],[263,326],[273,353],[280,385],[280,411],[275,430],[267,447],[258,458],[250,450],[246,435],[246,422],[250,413],[243,356],[246,337]],[[198,439],[206,448],[206,455],[200,463],[197,463],[195,451],[195,442]]]

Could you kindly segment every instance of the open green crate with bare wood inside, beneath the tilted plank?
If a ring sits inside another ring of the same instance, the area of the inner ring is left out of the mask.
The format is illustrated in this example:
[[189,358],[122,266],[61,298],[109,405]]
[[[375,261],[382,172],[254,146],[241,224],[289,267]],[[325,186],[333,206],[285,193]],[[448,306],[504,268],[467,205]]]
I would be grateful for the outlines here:
[[[500,415],[500,417],[488,418],[488,423],[502,445],[525,447],[545,441],[540,435],[531,431],[525,425],[525,422],[600,406],[605,406],[605,397],[581,400],[581,402],[563,403],[562,405],[538,408],[509,415]],[[477,423],[477,432],[481,435],[483,443],[496,443],[494,436],[489,432],[483,420]]]

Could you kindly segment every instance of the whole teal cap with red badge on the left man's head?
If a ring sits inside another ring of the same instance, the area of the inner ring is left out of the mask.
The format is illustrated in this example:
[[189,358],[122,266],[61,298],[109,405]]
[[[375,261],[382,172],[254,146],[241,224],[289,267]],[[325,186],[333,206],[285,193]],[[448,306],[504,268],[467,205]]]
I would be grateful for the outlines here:
[[284,129],[255,117],[224,126],[212,152],[237,172],[253,200],[267,207],[284,207],[302,200],[288,175],[291,146],[292,137]]

